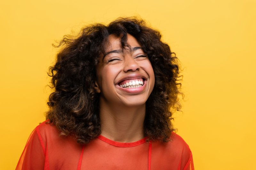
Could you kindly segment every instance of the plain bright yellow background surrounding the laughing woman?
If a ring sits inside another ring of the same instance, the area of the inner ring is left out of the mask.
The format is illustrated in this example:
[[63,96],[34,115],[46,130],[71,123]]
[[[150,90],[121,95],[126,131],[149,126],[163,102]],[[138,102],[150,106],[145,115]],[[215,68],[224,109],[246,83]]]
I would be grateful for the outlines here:
[[256,1],[4,1],[0,3],[0,167],[14,169],[44,121],[55,40],[93,22],[140,16],[179,57],[186,98],[175,117],[196,170],[256,169]]

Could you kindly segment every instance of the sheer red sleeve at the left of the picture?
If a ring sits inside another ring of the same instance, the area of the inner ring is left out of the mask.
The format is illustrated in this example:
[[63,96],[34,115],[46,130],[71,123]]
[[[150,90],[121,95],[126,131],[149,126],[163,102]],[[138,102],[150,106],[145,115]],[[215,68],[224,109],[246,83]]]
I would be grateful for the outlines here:
[[45,148],[38,127],[32,131],[20,156],[16,170],[44,169]]

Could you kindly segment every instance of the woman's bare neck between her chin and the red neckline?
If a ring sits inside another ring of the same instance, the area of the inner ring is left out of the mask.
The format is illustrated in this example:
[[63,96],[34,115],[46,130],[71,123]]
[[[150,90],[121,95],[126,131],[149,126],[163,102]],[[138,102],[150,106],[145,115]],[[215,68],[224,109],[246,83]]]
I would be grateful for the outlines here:
[[144,138],[146,104],[135,107],[116,105],[100,101],[101,135],[117,142],[135,142]]

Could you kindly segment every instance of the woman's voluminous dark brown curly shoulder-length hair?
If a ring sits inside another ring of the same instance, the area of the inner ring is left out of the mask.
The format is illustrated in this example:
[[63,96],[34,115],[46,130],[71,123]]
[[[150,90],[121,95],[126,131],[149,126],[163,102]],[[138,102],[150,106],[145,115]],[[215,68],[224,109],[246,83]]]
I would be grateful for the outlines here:
[[127,34],[131,34],[148,54],[155,86],[146,102],[144,133],[148,140],[169,141],[174,131],[172,113],[181,108],[179,60],[161,41],[161,33],[136,17],[86,26],[77,36],[65,35],[55,46],[60,51],[49,68],[54,92],[47,102],[46,119],[60,130],[60,135],[73,135],[78,143],[87,144],[101,134],[99,94],[94,89],[96,65],[111,34],[121,37],[122,47],[127,46]]

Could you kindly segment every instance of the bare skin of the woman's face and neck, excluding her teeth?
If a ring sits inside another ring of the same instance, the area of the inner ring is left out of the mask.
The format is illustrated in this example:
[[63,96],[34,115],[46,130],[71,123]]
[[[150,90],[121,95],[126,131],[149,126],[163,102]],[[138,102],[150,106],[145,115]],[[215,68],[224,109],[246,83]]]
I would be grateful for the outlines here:
[[[117,142],[138,141],[145,137],[143,122],[146,101],[154,88],[154,71],[147,54],[132,35],[127,35],[132,51],[122,49],[120,38],[115,35],[110,35],[108,42],[107,55],[100,56],[96,67],[95,90],[100,93],[101,135]],[[142,87],[125,89],[118,84],[137,78],[143,78]]]

